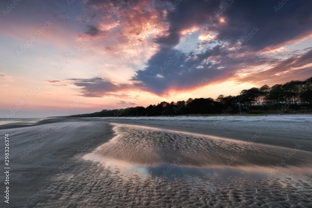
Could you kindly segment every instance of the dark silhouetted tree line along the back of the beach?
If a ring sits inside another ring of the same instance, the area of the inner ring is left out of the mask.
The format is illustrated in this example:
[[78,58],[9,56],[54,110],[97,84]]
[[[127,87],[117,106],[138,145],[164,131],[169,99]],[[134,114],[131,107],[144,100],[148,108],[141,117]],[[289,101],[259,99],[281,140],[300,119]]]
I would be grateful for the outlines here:
[[125,109],[102,110],[91,114],[79,114],[64,117],[113,117],[113,116],[159,116],[183,114],[237,114],[237,113],[292,113],[312,109],[312,77],[305,81],[290,81],[284,85],[244,89],[236,96],[219,95],[212,98],[189,98],[161,102],[157,105],[130,107]]

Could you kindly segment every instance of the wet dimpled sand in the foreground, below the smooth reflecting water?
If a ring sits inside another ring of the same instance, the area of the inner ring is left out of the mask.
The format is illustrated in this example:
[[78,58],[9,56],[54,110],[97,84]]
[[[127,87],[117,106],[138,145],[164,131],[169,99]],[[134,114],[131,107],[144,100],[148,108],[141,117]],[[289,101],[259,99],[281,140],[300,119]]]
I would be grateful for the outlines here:
[[[126,179],[91,164],[76,174],[53,178],[49,195],[55,200],[38,207],[311,207],[312,177],[252,179],[210,176],[209,178],[147,177],[129,174]],[[58,198],[59,197],[59,198]],[[58,198],[58,199],[57,199]],[[64,202],[66,201],[66,202]]]

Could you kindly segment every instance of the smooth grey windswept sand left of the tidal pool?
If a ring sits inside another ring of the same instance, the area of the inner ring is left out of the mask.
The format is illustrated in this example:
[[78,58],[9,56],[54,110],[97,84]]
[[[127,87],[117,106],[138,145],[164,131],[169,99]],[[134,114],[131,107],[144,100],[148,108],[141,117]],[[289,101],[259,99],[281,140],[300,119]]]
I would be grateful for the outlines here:
[[[92,152],[114,136],[108,124],[97,122],[49,123],[2,129],[0,133],[10,134],[11,147],[11,203],[8,206],[1,202],[5,207],[37,207],[38,201],[49,198],[47,190],[51,185],[50,179],[61,174],[60,168],[64,169],[63,172],[70,172],[80,165],[75,161],[85,152]],[[3,143],[4,141],[0,142],[2,147]],[[77,157],[73,157],[74,155]],[[0,161],[4,164],[3,157]],[[71,165],[64,167],[66,163]],[[3,177],[4,174],[1,174]],[[3,178],[1,180],[4,181]],[[4,187],[1,186],[1,192],[3,191]]]

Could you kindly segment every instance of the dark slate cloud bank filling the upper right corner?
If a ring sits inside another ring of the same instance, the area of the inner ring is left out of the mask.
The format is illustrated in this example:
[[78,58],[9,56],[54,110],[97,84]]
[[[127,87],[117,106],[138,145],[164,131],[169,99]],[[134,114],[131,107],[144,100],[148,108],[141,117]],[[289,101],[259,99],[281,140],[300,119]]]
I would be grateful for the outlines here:
[[[214,18],[215,12],[220,10],[220,6],[224,8],[225,3],[228,7],[212,21],[211,17]],[[169,35],[158,37],[155,42],[175,46],[183,29],[202,26],[216,31],[217,40],[234,44],[248,36],[253,27],[258,27],[262,34],[254,35],[246,45],[253,50],[261,50],[311,32],[311,1],[289,1],[276,13],[274,6],[278,4],[278,1],[183,1],[168,12]],[[221,17],[225,24],[219,24]]]

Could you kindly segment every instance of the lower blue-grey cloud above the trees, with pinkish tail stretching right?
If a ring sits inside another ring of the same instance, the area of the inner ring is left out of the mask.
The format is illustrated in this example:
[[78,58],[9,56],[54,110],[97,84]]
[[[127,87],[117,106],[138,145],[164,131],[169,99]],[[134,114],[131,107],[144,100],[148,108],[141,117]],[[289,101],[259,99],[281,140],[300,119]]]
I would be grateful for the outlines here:
[[[260,55],[246,55],[224,62],[223,56],[226,55],[227,51],[224,51],[221,45],[197,55],[185,54],[174,49],[161,49],[148,60],[148,67],[138,70],[132,80],[140,81],[135,84],[136,86],[161,95],[170,88],[183,90],[207,85],[217,78],[225,80],[234,75],[236,70],[246,66],[262,65],[268,61]],[[215,58],[218,62],[203,61],[209,57]]]

